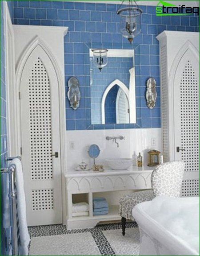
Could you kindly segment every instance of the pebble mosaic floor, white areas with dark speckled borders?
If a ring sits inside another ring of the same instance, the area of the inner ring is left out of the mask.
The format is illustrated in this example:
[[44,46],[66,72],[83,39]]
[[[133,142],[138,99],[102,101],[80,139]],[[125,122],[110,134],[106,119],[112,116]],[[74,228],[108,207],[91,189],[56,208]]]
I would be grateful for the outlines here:
[[64,225],[28,228],[29,255],[139,255],[137,224],[128,222],[122,235],[121,223],[67,230]]

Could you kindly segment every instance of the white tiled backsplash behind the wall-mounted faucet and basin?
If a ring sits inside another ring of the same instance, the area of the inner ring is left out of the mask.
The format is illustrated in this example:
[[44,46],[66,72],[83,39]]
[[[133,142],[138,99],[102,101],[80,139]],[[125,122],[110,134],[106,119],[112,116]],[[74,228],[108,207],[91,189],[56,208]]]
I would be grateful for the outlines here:
[[[125,136],[125,140],[117,140],[119,148],[112,140],[106,140],[106,136]],[[152,146],[152,138],[156,139],[156,146]],[[74,143],[74,149],[70,149],[70,142]],[[120,130],[81,130],[66,131],[67,167],[73,169],[84,160],[88,165],[93,160],[88,155],[88,148],[92,144],[100,147],[100,155],[96,164],[105,164],[108,157],[132,157],[134,151],[143,155],[143,163],[148,163],[147,152],[156,149],[161,152],[161,128],[148,129],[120,129]]]

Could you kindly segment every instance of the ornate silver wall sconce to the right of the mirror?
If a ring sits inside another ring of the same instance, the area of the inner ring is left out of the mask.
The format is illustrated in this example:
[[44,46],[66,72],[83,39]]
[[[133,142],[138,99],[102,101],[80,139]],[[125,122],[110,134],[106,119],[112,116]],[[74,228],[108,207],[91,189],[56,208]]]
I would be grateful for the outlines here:
[[153,107],[155,107],[156,98],[157,98],[156,80],[150,77],[147,80],[147,91],[146,91],[147,106],[149,108],[152,109]]

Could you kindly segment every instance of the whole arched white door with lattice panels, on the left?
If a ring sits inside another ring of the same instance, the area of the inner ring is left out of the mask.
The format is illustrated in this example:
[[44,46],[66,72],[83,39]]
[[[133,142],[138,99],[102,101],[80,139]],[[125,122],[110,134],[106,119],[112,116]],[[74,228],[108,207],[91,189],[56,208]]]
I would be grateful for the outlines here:
[[40,44],[20,78],[21,145],[28,226],[62,223],[58,79]]

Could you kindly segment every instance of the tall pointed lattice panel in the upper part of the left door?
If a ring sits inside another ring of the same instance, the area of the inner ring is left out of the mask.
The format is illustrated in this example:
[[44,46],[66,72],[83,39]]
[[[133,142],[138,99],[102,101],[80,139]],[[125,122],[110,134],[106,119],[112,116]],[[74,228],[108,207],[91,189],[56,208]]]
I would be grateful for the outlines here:
[[32,180],[52,179],[50,82],[40,58],[28,81]]

